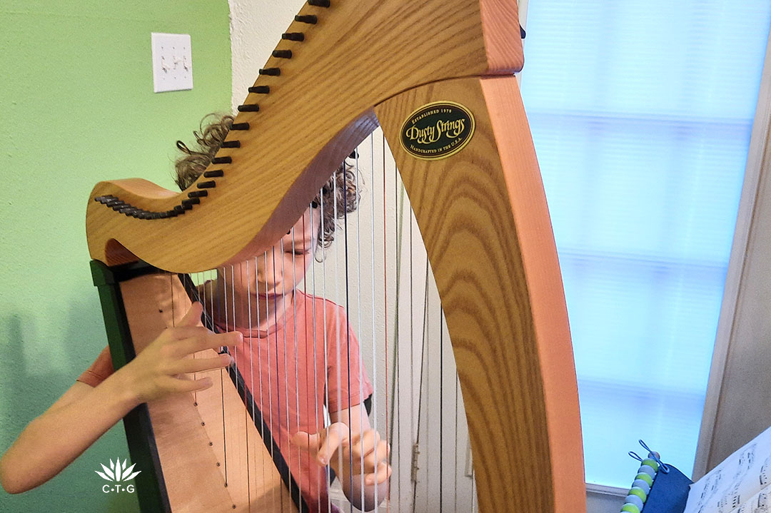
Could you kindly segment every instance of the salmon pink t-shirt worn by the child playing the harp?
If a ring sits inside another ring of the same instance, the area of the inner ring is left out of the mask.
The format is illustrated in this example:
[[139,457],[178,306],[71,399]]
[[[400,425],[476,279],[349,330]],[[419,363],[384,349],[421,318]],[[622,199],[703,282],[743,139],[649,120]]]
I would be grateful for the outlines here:
[[[335,412],[361,404],[372,394],[372,384],[360,359],[359,340],[342,307],[295,290],[294,300],[287,300],[283,310],[276,313],[278,322],[268,330],[237,326],[244,344],[229,350],[308,508],[325,512],[327,469],[291,445],[289,437],[297,431],[321,431],[325,405]],[[233,329],[224,319],[216,324],[220,330]],[[96,387],[112,372],[105,348],[78,381]]]

